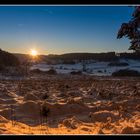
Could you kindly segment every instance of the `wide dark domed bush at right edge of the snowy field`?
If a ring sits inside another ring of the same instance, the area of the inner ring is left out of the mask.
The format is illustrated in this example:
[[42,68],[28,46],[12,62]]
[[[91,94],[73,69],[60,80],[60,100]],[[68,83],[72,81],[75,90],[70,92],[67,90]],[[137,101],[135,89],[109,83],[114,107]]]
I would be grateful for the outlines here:
[[140,76],[140,73],[136,70],[119,70],[112,73],[112,76]]

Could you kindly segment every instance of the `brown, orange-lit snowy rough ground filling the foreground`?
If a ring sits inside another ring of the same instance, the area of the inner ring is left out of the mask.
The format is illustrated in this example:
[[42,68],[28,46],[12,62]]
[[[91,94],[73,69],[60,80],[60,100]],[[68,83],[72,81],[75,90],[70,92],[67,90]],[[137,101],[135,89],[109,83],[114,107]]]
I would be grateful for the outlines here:
[[0,134],[140,134],[139,102],[139,78],[0,80]]

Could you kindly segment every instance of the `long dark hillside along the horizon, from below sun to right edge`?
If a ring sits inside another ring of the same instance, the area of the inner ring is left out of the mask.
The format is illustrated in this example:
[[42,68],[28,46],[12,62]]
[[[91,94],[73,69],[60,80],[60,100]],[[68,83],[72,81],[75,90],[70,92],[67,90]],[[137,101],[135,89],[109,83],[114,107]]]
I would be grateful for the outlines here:
[[[21,62],[30,60],[31,57],[27,54],[14,54]],[[115,52],[107,52],[107,53],[67,53],[61,55],[39,55],[37,61],[72,61],[72,60],[98,60],[98,61],[113,61],[118,60],[120,58],[125,59],[139,59],[140,53],[119,53],[116,55]]]

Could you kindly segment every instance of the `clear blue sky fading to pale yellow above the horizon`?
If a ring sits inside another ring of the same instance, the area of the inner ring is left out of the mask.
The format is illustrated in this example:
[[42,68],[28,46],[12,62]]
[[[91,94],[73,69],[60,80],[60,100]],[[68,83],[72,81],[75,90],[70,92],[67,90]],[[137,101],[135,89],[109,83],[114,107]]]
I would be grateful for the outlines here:
[[117,39],[132,6],[0,6],[0,48],[11,53],[126,52]]

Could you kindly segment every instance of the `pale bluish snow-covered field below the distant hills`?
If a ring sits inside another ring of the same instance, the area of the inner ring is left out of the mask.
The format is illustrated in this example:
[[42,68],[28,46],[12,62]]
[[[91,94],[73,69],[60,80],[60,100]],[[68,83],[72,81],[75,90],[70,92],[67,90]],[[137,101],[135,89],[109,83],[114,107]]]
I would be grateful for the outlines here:
[[[137,70],[140,72],[140,61],[131,60],[131,59],[121,59],[120,62],[126,62],[128,66],[108,66],[110,62],[92,62],[86,64],[87,72],[86,74],[97,75],[97,76],[110,76],[113,72],[120,69],[131,69]],[[31,67],[31,69],[40,69],[42,71],[47,71],[53,67],[57,73],[70,73],[71,71],[82,71],[82,63],[77,64],[56,64],[56,65],[47,65],[47,64],[37,64]]]

